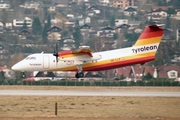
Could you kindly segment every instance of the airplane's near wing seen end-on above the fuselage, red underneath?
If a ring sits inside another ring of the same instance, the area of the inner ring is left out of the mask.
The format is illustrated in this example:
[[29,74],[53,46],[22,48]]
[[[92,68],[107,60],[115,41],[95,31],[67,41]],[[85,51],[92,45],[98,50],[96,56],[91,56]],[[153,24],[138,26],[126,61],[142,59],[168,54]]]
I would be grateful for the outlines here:
[[92,51],[91,51],[89,46],[80,46],[78,49],[72,51],[72,53],[74,53],[74,54],[81,54],[82,53],[82,54],[87,54],[90,57],[93,57]]

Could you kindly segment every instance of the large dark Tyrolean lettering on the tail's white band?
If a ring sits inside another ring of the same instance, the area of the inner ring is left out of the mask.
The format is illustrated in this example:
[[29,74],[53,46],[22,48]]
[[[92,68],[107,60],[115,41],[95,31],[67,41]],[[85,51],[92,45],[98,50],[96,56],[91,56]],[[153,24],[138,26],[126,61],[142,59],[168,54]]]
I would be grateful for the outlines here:
[[158,46],[157,45],[151,45],[151,46],[143,46],[139,48],[133,48],[132,51],[133,53],[141,53],[145,51],[152,51],[152,50],[157,50]]

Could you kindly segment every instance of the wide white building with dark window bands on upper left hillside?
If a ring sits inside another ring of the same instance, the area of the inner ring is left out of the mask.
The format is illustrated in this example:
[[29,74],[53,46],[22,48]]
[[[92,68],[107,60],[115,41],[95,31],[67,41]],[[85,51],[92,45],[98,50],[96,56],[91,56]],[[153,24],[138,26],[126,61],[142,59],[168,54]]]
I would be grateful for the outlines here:
[[14,19],[13,20],[13,26],[14,27],[23,27],[23,25],[26,23],[27,27],[32,27],[33,20],[29,17],[25,17],[24,19]]

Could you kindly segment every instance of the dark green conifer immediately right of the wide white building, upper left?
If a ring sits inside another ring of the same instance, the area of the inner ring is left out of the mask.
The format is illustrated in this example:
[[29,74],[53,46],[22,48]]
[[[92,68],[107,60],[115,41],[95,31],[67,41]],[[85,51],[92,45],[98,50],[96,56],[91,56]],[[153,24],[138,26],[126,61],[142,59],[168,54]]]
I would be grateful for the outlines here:
[[42,34],[42,26],[39,20],[39,17],[35,17],[32,24],[32,33],[34,35],[41,35]]

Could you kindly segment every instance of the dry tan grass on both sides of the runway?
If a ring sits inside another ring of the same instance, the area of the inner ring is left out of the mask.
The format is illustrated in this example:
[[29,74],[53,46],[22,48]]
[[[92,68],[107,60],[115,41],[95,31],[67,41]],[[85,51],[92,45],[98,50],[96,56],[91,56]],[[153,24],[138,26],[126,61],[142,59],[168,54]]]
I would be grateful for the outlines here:
[[[4,89],[180,91],[180,87],[0,86]],[[0,120],[180,120],[179,103],[179,97],[0,96]]]

